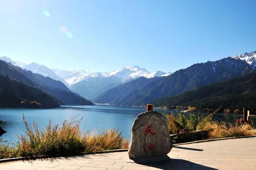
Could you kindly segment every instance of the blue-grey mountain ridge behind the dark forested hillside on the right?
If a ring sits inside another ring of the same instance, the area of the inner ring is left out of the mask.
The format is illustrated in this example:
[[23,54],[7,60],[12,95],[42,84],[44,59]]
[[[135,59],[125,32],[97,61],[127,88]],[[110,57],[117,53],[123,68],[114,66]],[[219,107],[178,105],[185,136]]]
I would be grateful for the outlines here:
[[[181,69],[167,77],[161,77],[131,91],[122,91],[136,86],[141,79],[119,85],[104,92],[96,103],[141,106],[152,103],[160,97],[174,96],[204,85],[223,82],[255,71],[256,52],[227,57],[219,61],[207,61]],[[132,83],[132,85],[131,85]],[[122,91],[122,96],[115,95]]]

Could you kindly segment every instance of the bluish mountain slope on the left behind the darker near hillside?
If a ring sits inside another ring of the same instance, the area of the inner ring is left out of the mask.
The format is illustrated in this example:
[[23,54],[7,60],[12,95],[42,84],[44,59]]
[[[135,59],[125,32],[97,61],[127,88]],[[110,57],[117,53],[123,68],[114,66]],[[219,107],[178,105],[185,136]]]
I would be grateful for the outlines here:
[[0,60],[0,74],[48,93],[59,104],[94,105],[91,101],[68,89],[61,81],[24,70],[18,66],[12,65],[11,62]]

